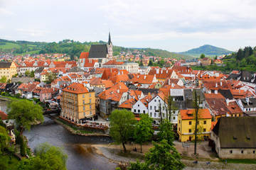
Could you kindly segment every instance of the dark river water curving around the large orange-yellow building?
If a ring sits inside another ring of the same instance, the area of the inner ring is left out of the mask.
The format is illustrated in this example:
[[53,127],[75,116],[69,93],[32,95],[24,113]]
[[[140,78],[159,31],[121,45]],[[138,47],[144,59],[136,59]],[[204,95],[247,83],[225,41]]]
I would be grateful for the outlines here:
[[[0,100],[1,111],[6,113],[7,101]],[[28,138],[28,146],[31,149],[43,142],[48,142],[56,147],[63,147],[68,154],[68,170],[107,170],[115,169],[117,164],[109,162],[94,152],[91,145],[109,144],[112,142],[110,137],[85,137],[73,135],[63,126],[55,123],[48,117],[44,117],[41,125],[33,125],[30,131],[25,130],[23,135]]]

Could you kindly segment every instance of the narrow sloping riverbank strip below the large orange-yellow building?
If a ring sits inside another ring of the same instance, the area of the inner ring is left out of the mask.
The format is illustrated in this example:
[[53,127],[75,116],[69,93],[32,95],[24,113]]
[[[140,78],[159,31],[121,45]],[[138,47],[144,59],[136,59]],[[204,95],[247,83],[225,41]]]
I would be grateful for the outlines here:
[[79,130],[78,128],[73,128],[68,123],[65,123],[65,120],[61,120],[58,118],[58,116],[50,115],[50,118],[55,121],[55,123],[58,123],[59,125],[62,125],[65,129],[67,129],[69,132],[71,132],[74,135],[81,135],[81,136],[87,136],[87,137],[110,137],[110,135],[102,134],[102,133],[95,133],[90,132],[88,130]]

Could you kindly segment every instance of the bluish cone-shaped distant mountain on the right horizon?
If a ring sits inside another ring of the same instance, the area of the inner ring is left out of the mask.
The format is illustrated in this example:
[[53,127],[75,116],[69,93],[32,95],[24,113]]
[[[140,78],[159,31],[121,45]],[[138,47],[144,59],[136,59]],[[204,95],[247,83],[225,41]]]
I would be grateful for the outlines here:
[[224,48],[215,47],[213,45],[203,45],[198,48],[193,48],[191,50],[188,50],[186,52],[179,52],[179,54],[182,55],[189,55],[193,57],[200,57],[201,54],[204,54],[210,57],[214,57],[215,55],[228,55],[231,54],[232,51],[225,50]]

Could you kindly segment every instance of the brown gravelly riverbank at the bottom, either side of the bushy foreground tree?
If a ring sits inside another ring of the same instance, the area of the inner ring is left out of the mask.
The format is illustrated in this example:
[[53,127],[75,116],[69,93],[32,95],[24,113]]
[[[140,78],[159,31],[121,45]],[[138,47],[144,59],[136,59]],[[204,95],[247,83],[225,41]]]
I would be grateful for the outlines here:
[[[129,166],[129,162],[136,162],[136,159],[139,159],[140,162],[144,161],[144,153],[139,153],[139,149],[137,152],[132,151],[133,147],[139,148],[139,145],[126,145],[128,153],[124,154],[122,152],[122,145],[92,145],[95,149],[95,152],[103,157],[106,157],[110,160],[110,162],[114,162],[116,164],[122,166]],[[147,145],[143,145],[142,149],[144,151],[148,150],[149,148],[153,147],[151,143]],[[239,169],[239,170],[247,170],[247,169],[256,169],[255,164],[225,164],[220,162],[220,159],[208,159],[208,158],[200,158],[198,164],[194,164],[193,157],[186,157],[187,159],[181,159],[181,162],[186,165],[185,170],[190,169]],[[210,161],[210,164],[206,164],[206,162]]]

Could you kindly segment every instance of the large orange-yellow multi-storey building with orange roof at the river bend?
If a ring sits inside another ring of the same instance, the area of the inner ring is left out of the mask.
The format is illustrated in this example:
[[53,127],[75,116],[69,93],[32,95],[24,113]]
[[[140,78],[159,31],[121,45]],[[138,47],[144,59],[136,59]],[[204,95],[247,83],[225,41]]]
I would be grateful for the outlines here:
[[88,91],[82,84],[73,83],[63,89],[60,98],[61,116],[81,123],[85,118],[95,116],[95,91]]

